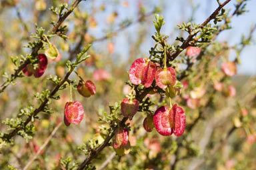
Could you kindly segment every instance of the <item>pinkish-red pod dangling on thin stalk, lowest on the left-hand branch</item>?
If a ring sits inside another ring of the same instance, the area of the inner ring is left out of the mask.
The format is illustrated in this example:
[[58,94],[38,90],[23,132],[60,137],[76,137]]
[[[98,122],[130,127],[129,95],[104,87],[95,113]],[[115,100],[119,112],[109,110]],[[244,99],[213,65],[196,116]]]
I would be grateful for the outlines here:
[[83,105],[79,101],[67,102],[64,109],[64,123],[78,125],[83,119]]

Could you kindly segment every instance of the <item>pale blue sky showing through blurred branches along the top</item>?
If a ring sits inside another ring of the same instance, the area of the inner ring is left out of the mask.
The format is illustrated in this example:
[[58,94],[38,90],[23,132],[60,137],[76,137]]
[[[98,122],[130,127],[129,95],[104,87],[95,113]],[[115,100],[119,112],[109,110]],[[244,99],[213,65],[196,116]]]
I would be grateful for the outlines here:
[[[86,1],[86,3],[89,3],[89,1]],[[94,5],[97,5],[97,3],[101,4],[103,1],[95,1]],[[106,2],[106,1],[105,1]],[[111,2],[112,8],[108,8],[105,13],[97,16],[98,18],[107,17],[106,13],[109,11],[118,11],[119,16],[118,19],[136,19],[137,13],[136,13],[136,7],[137,7],[137,0],[129,0],[129,7],[128,8],[120,8],[120,6],[115,6],[115,1],[108,1]],[[155,5],[160,5],[163,7],[163,12],[161,15],[165,18],[166,24],[163,26],[163,33],[166,35],[170,35],[169,39],[175,40],[175,34],[173,34],[173,30],[177,29],[177,24],[181,21],[187,22],[189,20],[189,17],[191,16],[191,3],[189,3],[189,0],[165,0],[165,1],[143,1],[148,2],[147,3],[147,9],[148,11],[151,11]],[[221,0],[223,2],[223,0]],[[235,7],[235,0],[231,0],[225,8],[231,9],[231,12],[234,11]],[[86,10],[90,9],[90,5],[84,3],[83,5],[87,5],[85,7]],[[112,4],[113,3],[113,4]],[[217,1],[215,0],[195,0],[193,1],[193,5],[198,6],[197,11],[195,12],[195,22],[196,23],[203,23],[215,9],[217,9]],[[117,9],[117,7],[119,7]],[[256,23],[256,0],[251,0],[247,2],[247,10],[249,12],[245,13],[244,15],[240,15],[239,17],[233,17],[231,26],[233,27],[230,30],[223,31],[221,35],[217,38],[219,41],[227,41],[229,45],[234,45],[235,43],[240,42],[241,35],[245,34],[247,35],[249,33],[249,30],[253,23]],[[108,11],[109,10],[109,11]],[[181,11],[183,11],[181,13]],[[96,18],[97,18],[96,17]],[[149,21],[153,21],[154,17],[149,17]],[[96,35],[96,37],[101,37],[101,35],[104,35],[103,33],[103,27],[105,23],[99,23],[101,27],[99,29],[93,30],[93,35]],[[153,24],[152,24],[153,25]],[[113,40],[117,44],[117,53],[123,53],[127,54],[128,49],[125,49],[124,47],[127,47],[127,36],[125,33],[131,33],[136,30],[138,25],[133,25],[129,27],[127,30],[123,31],[122,33],[119,33],[119,35]],[[149,28],[149,32],[151,32],[151,35],[155,32],[155,29]],[[238,66],[238,74],[246,74],[246,75],[256,75],[256,48],[255,48],[255,33],[253,35],[254,43],[250,45],[249,47],[245,47],[243,52],[241,53],[241,65]],[[150,39],[151,40],[151,39]],[[148,49],[150,47],[153,47],[154,41],[147,41],[145,44],[143,44],[143,49],[145,49],[145,55],[148,53]],[[232,55],[232,54],[231,54]],[[230,56],[231,59],[233,59],[233,56]],[[126,58],[126,57],[124,57]]]

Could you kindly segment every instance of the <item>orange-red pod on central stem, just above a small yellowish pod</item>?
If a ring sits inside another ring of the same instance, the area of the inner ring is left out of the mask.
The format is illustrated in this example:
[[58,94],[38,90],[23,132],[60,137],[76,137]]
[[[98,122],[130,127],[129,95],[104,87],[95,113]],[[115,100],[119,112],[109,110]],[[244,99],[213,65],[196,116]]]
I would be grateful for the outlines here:
[[120,148],[122,145],[127,145],[129,139],[128,129],[123,129],[123,127],[118,127],[115,130],[115,136],[113,138],[114,148]]

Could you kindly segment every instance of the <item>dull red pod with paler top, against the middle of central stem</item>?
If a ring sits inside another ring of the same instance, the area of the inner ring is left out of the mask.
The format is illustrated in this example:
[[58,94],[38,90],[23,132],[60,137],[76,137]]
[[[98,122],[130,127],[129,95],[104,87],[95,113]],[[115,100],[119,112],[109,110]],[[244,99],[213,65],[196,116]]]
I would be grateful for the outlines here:
[[133,117],[139,109],[139,101],[134,99],[130,101],[128,98],[124,98],[121,102],[121,113],[124,117]]

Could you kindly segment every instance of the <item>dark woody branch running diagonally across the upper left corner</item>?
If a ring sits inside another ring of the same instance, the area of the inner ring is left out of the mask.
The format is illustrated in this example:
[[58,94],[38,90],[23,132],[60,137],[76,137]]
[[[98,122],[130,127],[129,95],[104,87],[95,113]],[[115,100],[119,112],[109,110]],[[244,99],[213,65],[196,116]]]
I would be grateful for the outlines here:
[[[69,9],[69,11],[67,11],[67,13],[65,13],[63,16],[59,17],[59,20],[57,21],[57,23],[55,24],[55,26],[53,27],[53,29],[51,29],[51,32],[53,34],[56,34],[59,31],[59,27],[61,26],[61,24],[63,23],[63,21],[65,21],[65,19],[73,12],[73,10],[75,9],[75,7],[77,7],[77,5],[81,2],[82,0],[76,0],[72,5],[71,5],[71,9]],[[85,0],[86,1],[86,0]],[[39,43],[35,48],[33,48],[33,51],[31,52],[32,56],[37,55],[39,49],[41,49],[41,47],[43,47],[43,43]],[[30,63],[29,59],[26,59],[24,61],[23,64],[21,64],[19,66],[18,69],[15,70],[15,73],[13,73],[11,75],[11,81],[14,81],[19,73],[21,72],[22,69],[24,69],[28,64]],[[5,81],[1,87],[0,87],[0,93],[2,93],[5,88],[10,85],[9,81]]]

